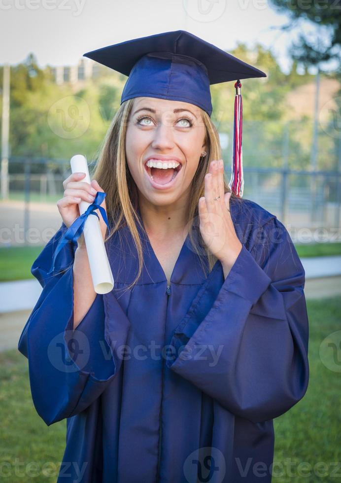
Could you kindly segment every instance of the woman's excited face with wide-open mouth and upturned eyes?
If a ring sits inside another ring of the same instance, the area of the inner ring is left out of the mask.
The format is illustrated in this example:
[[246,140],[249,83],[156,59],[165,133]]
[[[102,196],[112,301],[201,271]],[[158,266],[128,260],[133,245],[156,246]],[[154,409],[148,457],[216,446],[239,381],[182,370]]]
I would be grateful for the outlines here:
[[126,156],[139,196],[158,206],[186,202],[204,138],[201,110],[194,104],[135,98]]

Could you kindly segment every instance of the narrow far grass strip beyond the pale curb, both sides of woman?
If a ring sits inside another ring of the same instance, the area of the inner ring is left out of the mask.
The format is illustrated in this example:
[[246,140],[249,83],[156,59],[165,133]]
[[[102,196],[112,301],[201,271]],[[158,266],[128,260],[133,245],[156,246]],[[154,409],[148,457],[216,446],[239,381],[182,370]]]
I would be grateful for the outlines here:
[[[341,255],[341,243],[295,245],[300,257]],[[12,246],[0,248],[0,281],[33,278],[31,267],[43,246]]]

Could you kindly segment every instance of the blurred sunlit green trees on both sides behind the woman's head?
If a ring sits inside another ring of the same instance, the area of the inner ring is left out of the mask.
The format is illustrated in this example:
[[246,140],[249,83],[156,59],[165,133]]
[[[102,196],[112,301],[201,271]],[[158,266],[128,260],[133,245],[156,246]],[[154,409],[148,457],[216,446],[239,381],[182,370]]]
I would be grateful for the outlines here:
[[[266,78],[242,80],[243,154],[245,166],[280,167],[283,164],[283,136],[289,130],[289,167],[307,168],[310,162],[312,123],[292,119],[287,96],[296,87],[311,81],[307,72],[299,74],[297,62],[291,71],[281,71],[273,53],[257,44],[250,51],[239,43],[230,52],[246,63],[257,66]],[[2,68],[0,68],[2,79]],[[69,160],[82,153],[96,160],[110,122],[120,105],[126,76],[110,69],[99,69],[94,79],[58,85],[51,69],[39,69],[33,54],[22,64],[11,68],[10,155]],[[230,158],[235,102],[234,82],[211,86],[212,120],[220,133],[229,135]],[[1,97],[0,97],[1,103]],[[297,126],[297,127],[296,127]],[[319,139],[319,167],[335,167],[336,139]],[[47,167],[56,172],[55,166]],[[22,171],[10,163],[10,173]],[[32,172],[41,172],[41,165]],[[37,171],[38,170],[38,171]]]

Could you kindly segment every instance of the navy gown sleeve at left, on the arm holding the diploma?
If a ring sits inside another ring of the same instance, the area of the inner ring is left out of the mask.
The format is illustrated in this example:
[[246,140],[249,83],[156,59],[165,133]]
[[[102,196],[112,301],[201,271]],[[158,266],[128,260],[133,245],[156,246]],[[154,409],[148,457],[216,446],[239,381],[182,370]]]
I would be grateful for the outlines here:
[[109,337],[124,343],[130,325],[117,301],[110,304],[106,320],[103,295],[97,294],[73,330],[76,242],[61,249],[53,273],[48,274],[58,241],[66,230],[63,223],[32,265],[31,273],[43,290],[18,343],[18,350],[28,358],[34,407],[48,426],[84,411],[102,394],[122,360]]

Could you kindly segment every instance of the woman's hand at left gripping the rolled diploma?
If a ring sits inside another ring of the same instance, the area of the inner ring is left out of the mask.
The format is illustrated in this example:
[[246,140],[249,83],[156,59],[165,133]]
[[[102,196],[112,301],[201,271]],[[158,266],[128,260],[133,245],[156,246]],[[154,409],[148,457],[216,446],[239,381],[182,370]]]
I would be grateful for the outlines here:
[[[57,202],[57,207],[61,217],[67,227],[80,216],[79,203],[81,200],[87,203],[93,203],[98,191],[103,191],[98,182],[93,179],[91,184],[81,181],[85,177],[85,173],[72,173],[67,179],[63,181],[64,197]],[[101,207],[106,211],[105,199]],[[100,217],[100,226],[103,240],[105,239],[107,226],[102,218],[99,209],[95,210]],[[93,216],[93,215],[92,215]],[[85,246],[83,233],[77,240],[78,246]]]

